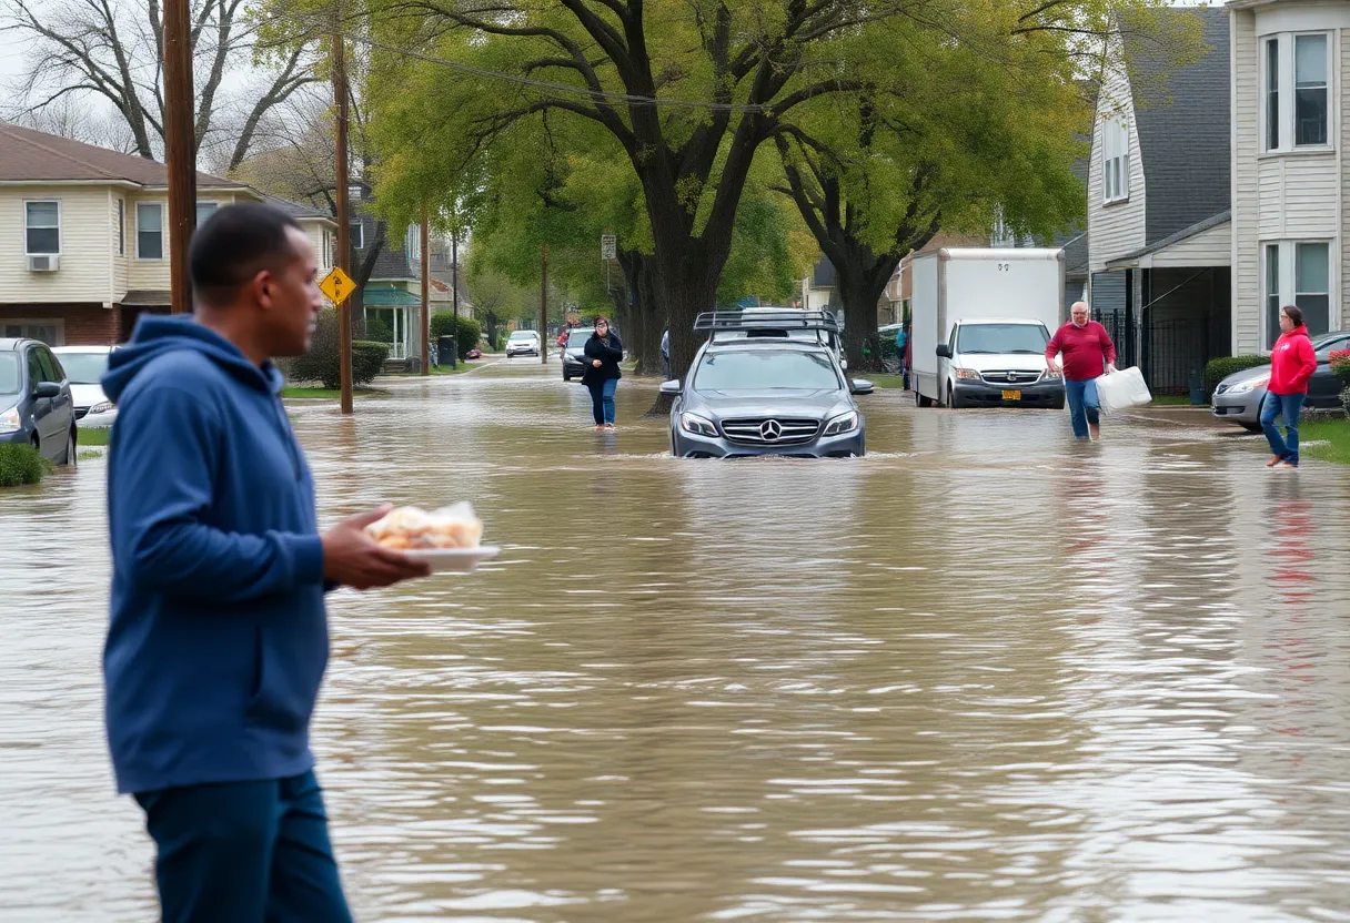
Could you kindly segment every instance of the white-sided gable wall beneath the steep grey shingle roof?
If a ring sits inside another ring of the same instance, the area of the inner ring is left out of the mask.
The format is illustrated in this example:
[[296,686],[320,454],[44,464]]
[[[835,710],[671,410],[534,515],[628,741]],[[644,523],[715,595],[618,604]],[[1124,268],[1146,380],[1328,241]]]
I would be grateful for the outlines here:
[[[1143,158],[1139,155],[1139,132],[1134,121],[1134,94],[1126,74],[1125,51],[1119,32],[1111,36],[1112,62],[1092,127],[1092,157],[1088,165],[1088,269],[1100,273],[1107,260],[1139,250],[1145,244]],[[1130,130],[1130,198],[1106,205],[1102,202],[1102,121],[1104,115],[1123,116]]]

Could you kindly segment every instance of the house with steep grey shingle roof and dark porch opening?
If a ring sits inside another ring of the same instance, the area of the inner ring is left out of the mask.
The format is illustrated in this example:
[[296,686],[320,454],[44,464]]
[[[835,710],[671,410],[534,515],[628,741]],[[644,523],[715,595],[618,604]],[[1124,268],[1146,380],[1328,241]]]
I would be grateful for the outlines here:
[[[1107,40],[1088,163],[1088,294],[1122,362],[1184,391],[1233,352],[1228,15],[1165,8]],[[1195,18],[1206,51],[1165,39]]]

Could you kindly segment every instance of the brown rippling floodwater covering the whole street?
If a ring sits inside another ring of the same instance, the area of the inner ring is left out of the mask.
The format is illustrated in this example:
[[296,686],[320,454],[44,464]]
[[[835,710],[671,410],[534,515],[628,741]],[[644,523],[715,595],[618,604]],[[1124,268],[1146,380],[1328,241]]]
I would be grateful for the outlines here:
[[[1200,414],[860,398],[682,462],[513,363],[296,402],[323,521],[468,499],[471,576],[331,596],[360,920],[1350,920],[1350,471]],[[103,737],[105,463],[0,494],[0,919],[155,916]]]

